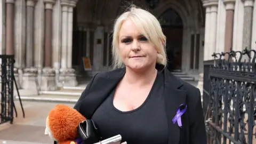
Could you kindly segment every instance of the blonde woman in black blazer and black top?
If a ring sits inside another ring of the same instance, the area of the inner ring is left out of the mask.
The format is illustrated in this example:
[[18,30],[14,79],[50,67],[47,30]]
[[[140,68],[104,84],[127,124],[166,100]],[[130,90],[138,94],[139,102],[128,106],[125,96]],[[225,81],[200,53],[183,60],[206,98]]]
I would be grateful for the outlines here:
[[[201,94],[165,68],[165,36],[154,15],[134,6],[123,13],[112,51],[116,69],[95,75],[75,105],[102,139],[121,134],[129,144],[206,143]],[[178,109],[183,114],[173,121]]]

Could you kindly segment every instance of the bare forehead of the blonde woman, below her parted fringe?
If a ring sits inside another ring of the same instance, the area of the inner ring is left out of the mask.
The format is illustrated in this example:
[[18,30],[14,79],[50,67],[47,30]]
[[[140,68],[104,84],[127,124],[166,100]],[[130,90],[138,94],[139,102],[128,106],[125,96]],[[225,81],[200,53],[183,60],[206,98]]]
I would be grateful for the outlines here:
[[121,26],[120,31],[119,31],[119,37],[133,36],[133,35],[138,36],[138,35],[141,35],[141,33],[132,20],[130,20],[130,19],[125,20]]

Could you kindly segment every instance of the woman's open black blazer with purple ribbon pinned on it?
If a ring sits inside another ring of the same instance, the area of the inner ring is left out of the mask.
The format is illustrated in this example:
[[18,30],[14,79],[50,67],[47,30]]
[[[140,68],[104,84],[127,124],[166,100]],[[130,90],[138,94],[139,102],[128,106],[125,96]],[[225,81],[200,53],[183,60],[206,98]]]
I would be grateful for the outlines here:
[[[125,68],[96,74],[74,108],[90,119],[124,74]],[[164,69],[164,95],[169,130],[168,144],[206,144],[200,91]],[[181,116],[182,127],[179,127],[177,123],[173,124],[172,119],[182,103],[186,103],[187,110]]]

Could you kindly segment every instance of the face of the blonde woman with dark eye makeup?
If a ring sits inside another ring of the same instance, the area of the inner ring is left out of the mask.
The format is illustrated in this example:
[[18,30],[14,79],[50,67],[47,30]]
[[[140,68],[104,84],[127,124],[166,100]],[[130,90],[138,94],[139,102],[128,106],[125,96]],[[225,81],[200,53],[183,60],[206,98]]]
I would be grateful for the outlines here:
[[142,70],[155,66],[157,51],[148,39],[140,34],[131,20],[126,20],[119,31],[119,51],[126,67]]

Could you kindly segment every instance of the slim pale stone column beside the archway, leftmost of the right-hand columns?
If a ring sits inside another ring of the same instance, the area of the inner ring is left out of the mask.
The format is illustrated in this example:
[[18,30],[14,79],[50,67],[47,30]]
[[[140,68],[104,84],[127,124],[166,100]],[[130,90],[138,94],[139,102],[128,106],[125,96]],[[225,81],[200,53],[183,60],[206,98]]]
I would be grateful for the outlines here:
[[204,3],[204,6],[206,7],[204,32],[204,60],[209,60],[211,7],[208,5],[208,3]]

